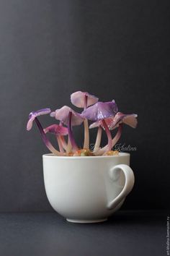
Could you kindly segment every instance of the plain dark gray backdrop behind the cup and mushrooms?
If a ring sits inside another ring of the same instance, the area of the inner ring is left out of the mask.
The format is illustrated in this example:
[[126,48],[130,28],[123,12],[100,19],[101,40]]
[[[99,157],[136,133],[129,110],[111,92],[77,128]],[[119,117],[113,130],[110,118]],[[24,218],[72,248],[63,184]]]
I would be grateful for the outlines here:
[[138,128],[125,127],[121,139],[137,147],[123,208],[169,208],[169,13],[170,1],[156,0],[0,1],[1,211],[52,210],[48,150],[36,127],[26,132],[27,116],[71,106],[76,90],[138,114]]

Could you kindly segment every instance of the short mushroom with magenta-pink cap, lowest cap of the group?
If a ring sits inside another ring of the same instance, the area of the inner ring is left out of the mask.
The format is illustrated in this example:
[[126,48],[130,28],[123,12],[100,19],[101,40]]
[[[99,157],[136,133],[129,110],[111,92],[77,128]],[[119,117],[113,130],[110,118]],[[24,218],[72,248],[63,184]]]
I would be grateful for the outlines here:
[[44,132],[53,133],[58,141],[58,147],[62,153],[64,153],[63,148],[66,149],[66,142],[63,136],[68,135],[68,128],[63,127],[61,124],[52,124],[50,127],[44,129]]

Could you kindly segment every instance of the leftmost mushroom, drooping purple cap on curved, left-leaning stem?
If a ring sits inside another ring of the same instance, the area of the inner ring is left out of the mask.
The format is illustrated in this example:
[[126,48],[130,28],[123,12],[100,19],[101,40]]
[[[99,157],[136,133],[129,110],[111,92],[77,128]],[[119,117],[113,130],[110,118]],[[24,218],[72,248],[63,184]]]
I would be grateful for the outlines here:
[[42,140],[45,143],[45,145],[47,146],[47,148],[55,155],[63,155],[61,152],[59,152],[58,150],[55,150],[55,148],[53,148],[53,145],[50,143],[50,141],[48,140],[48,137],[45,135],[42,125],[40,124],[40,121],[37,119],[37,116],[41,116],[41,115],[45,115],[45,114],[50,114],[50,108],[42,108],[38,111],[32,111],[29,114],[29,120],[27,122],[27,131],[30,131],[30,129],[32,129],[32,123],[33,123],[33,121],[35,121],[38,129],[40,130]]

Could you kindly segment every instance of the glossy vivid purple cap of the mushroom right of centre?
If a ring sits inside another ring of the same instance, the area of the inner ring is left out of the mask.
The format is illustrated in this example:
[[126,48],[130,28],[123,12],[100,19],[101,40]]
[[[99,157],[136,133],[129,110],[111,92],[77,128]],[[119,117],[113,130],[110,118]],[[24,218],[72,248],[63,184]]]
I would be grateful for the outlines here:
[[107,119],[108,117],[115,116],[117,113],[117,105],[115,101],[97,102],[93,106],[86,108],[81,116],[91,121],[99,121]]

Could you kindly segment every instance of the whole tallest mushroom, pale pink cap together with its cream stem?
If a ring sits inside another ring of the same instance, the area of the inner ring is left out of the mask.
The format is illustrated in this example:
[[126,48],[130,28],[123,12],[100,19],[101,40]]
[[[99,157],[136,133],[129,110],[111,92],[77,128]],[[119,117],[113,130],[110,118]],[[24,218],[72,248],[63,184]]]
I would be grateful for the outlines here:
[[[99,101],[99,98],[86,92],[78,91],[71,94],[71,103],[78,108],[84,108],[84,110],[97,103],[97,101]],[[87,119],[84,119],[84,148],[89,149],[89,124]]]

